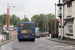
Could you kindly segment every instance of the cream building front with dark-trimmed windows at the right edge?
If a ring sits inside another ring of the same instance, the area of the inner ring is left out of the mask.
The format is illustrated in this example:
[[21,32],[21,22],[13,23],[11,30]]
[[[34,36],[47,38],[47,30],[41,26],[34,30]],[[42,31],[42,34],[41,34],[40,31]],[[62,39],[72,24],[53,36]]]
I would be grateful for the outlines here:
[[75,1],[64,3],[64,38],[75,39]]

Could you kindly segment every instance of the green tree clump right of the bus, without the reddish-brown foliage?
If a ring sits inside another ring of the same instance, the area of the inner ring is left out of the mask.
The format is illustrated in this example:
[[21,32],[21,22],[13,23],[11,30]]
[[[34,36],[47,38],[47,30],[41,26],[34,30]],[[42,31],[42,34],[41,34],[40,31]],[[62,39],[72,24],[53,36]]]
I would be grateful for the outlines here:
[[[51,19],[54,19],[55,18],[55,15],[54,14],[40,14],[40,15],[34,15],[32,18],[31,18],[31,21],[34,21],[35,22],[35,26],[44,30],[45,31],[45,26],[46,26],[46,30],[47,30],[47,23],[49,22],[49,20]],[[37,24],[38,23],[38,24]],[[49,25],[49,24],[48,24]]]

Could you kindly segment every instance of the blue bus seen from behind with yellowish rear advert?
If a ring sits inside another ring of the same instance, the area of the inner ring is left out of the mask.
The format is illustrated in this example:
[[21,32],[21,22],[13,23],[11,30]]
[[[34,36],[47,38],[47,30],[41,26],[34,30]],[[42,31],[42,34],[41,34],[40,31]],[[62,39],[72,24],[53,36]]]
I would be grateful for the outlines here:
[[34,22],[19,22],[18,23],[18,40],[30,39],[35,41],[35,23]]

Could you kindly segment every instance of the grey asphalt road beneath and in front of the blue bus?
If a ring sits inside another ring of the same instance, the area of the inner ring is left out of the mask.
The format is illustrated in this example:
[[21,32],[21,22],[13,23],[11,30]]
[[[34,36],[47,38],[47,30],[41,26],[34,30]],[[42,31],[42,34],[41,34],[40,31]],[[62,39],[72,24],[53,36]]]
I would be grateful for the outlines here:
[[0,46],[0,50],[75,50],[75,45],[36,38],[35,42],[15,40]]

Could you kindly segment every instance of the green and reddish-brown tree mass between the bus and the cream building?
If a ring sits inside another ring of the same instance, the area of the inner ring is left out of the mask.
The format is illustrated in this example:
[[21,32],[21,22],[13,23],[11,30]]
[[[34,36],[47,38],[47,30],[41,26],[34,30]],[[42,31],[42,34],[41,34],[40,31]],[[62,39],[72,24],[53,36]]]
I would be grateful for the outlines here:
[[[52,29],[54,30],[54,22],[55,22],[55,15],[54,14],[40,14],[40,15],[34,15],[32,18],[31,18],[31,21],[34,21],[35,22],[35,27],[39,27],[40,30],[44,30],[45,31],[45,26],[46,26],[46,31],[47,31],[47,23],[48,23],[48,26],[49,26],[49,32],[51,32],[50,28],[51,28],[51,19],[53,19],[53,22],[52,22]],[[57,22],[57,28],[58,28],[58,20],[56,20]]]

